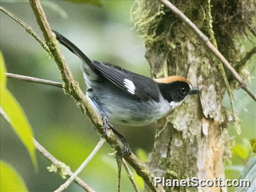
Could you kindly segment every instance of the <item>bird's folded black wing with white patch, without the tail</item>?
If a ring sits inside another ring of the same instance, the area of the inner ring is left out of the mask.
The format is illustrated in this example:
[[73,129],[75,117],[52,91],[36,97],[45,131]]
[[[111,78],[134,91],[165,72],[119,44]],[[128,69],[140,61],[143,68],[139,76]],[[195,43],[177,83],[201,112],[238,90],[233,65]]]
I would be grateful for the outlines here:
[[153,79],[118,66],[93,61],[92,65],[110,82],[141,101],[159,101],[159,87]]

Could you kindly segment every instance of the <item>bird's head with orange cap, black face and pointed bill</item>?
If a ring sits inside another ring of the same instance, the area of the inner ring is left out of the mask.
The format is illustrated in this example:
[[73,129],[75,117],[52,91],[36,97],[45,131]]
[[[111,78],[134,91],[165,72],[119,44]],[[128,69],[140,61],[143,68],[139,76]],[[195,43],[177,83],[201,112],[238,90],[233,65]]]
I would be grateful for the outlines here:
[[180,105],[187,96],[200,93],[196,87],[192,86],[190,81],[181,76],[169,76],[154,80],[157,82],[162,96],[172,107]]

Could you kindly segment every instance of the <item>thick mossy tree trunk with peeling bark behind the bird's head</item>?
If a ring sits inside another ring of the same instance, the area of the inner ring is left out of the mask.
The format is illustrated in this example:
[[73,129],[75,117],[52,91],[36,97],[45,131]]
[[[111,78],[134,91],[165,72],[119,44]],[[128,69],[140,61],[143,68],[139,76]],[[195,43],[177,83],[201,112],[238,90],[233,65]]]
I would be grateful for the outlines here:
[[[234,37],[253,26],[253,1],[171,1],[204,32],[245,77],[239,64],[240,45]],[[159,1],[137,1],[133,7],[135,28],[146,45],[146,59],[153,78],[179,75],[191,81],[201,94],[190,96],[167,117],[158,120],[149,168],[166,179],[225,178],[224,160],[230,159],[227,127],[232,113],[222,107],[226,91],[219,60],[201,39]],[[237,86],[227,73],[232,88]],[[239,128],[238,128],[239,130]],[[146,191],[149,189],[146,188]],[[166,187],[166,191],[226,191],[216,187]]]

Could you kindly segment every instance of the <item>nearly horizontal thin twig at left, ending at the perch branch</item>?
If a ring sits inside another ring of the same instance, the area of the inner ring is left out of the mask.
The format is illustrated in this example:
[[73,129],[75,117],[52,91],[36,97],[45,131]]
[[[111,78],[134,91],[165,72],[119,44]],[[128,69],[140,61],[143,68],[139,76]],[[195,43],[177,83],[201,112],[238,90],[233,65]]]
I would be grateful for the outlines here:
[[23,81],[27,81],[27,82],[37,82],[37,83],[44,84],[44,85],[50,85],[50,86],[62,88],[61,82],[54,82],[54,81],[50,81],[50,80],[33,78],[33,77],[28,77],[28,76],[24,76],[24,75],[13,74],[13,73],[5,73],[5,74],[6,74],[6,77],[12,78],[12,79],[18,79],[18,80],[23,80]]

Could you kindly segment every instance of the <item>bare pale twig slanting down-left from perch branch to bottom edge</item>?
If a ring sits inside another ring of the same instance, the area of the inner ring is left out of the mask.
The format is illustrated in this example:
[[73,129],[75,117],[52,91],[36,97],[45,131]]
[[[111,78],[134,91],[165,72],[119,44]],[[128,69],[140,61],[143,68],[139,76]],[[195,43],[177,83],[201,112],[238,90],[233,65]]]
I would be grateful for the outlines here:
[[91,151],[91,154],[82,163],[82,165],[80,165],[80,167],[75,171],[75,173],[73,175],[71,175],[71,177],[64,184],[62,184],[58,189],[56,189],[55,192],[62,192],[64,189],[69,187],[70,183],[72,183],[72,181],[78,176],[78,174],[80,174],[82,169],[90,162],[92,157],[94,157],[94,155],[96,155],[96,153],[99,151],[101,146],[105,143],[105,141],[106,141],[105,138],[101,138],[101,140],[98,142],[98,144],[96,145],[94,150]]

